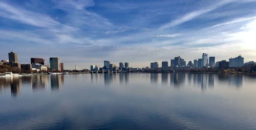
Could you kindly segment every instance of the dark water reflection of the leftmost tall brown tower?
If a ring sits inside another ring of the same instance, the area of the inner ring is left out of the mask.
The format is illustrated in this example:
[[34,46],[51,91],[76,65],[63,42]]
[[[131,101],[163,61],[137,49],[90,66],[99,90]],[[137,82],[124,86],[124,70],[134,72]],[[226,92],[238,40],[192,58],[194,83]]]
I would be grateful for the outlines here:
[[20,85],[22,85],[22,79],[20,77],[10,77],[10,78],[11,78],[11,82],[10,82],[11,95],[12,97],[16,98],[17,95],[19,95],[20,93],[19,87]]

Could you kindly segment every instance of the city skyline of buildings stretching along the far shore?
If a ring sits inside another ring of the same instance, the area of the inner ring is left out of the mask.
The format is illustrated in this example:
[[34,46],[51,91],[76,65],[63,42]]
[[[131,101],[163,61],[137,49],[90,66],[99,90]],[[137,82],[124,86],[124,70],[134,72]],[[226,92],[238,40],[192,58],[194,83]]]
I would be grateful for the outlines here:
[[[7,62],[7,64],[11,65],[11,66],[16,66],[20,68],[20,64],[22,64],[23,66],[21,67],[22,69],[27,70],[28,68],[31,69],[31,65],[32,65],[32,69],[38,69],[36,66],[44,66],[44,68],[50,68],[51,70],[58,70],[63,72],[64,70],[69,70],[69,69],[64,69],[63,63],[60,62],[60,58],[59,57],[50,57],[49,60],[49,64],[46,64],[46,59],[44,58],[30,58],[31,59],[31,63],[20,63],[18,62],[18,54],[15,52],[10,52],[8,53],[9,56],[9,60],[1,60],[1,64],[4,64]],[[191,60],[189,60],[188,62],[186,62],[185,59],[182,59],[180,56],[178,57],[174,57],[174,59],[170,59],[170,63],[168,61],[162,61],[162,64],[159,66],[158,62],[151,62],[150,63],[150,68],[151,69],[158,69],[158,68],[162,68],[162,69],[167,69],[169,67],[173,68],[173,67],[188,67],[188,68],[229,68],[229,67],[244,67],[245,64],[250,64],[250,63],[254,63],[254,61],[249,61],[249,62],[244,62],[244,57],[242,57],[241,55],[237,56],[237,57],[231,57],[229,58],[229,60],[225,60],[222,59],[220,61],[215,61],[215,56],[210,56],[208,58],[208,54],[207,53],[203,53],[202,54],[202,58],[198,58],[194,59],[194,61],[192,62]],[[14,63],[14,64],[13,64]],[[16,64],[15,64],[16,63]],[[223,63],[225,64],[225,66],[223,65]],[[117,63],[118,64],[118,63]],[[222,64],[222,65],[219,65]],[[48,67],[47,67],[47,66]],[[123,66],[124,65],[124,66]],[[170,65],[170,66],[169,66]],[[115,63],[108,61],[108,60],[104,60],[103,61],[103,66],[99,66],[98,64],[94,64],[94,65],[90,65],[90,68],[83,68],[87,69],[87,70],[91,70],[91,71],[98,71],[99,69],[106,69],[106,70],[119,70],[119,69],[123,69],[123,68],[134,68],[134,69],[138,69],[139,67],[129,67],[129,62],[119,62],[119,66],[116,66]],[[148,68],[148,66],[145,67],[141,67],[141,68]],[[125,69],[125,71],[126,71]],[[41,70],[41,68],[39,69]],[[76,64],[75,64],[75,69],[73,70],[77,70],[76,68]]]

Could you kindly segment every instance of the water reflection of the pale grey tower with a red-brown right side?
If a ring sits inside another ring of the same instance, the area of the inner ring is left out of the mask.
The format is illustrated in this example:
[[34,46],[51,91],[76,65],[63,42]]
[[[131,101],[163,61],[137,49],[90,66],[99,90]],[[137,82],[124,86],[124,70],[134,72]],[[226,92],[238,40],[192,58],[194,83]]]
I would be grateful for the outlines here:
[[57,91],[57,90],[61,90],[61,86],[63,83],[63,80],[61,79],[63,78],[62,75],[51,75],[51,90],[52,91]]

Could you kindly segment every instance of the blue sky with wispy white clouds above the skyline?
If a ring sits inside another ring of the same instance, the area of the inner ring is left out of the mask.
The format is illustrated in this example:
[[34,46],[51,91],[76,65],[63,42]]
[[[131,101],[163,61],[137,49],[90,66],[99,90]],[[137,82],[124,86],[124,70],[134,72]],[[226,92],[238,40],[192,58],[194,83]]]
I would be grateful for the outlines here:
[[[242,55],[256,61],[256,0],[0,1],[0,59],[60,57],[65,69]],[[170,63],[169,63],[170,64]]]

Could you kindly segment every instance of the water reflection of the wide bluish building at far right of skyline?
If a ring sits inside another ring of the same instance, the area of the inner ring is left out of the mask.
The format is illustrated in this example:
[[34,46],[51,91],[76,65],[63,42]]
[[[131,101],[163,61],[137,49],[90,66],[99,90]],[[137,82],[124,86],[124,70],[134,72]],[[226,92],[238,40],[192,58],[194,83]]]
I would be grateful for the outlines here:
[[243,75],[242,74],[229,74],[228,75],[228,86],[236,86],[241,88],[243,85]]

